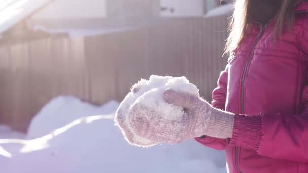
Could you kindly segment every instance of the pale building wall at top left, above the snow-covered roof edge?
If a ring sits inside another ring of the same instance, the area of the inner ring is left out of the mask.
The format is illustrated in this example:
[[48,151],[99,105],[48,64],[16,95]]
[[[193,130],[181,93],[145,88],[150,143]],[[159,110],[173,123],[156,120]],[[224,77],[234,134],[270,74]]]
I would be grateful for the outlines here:
[[56,0],[33,15],[33,20],[131,18],[157,15],[159,0]]

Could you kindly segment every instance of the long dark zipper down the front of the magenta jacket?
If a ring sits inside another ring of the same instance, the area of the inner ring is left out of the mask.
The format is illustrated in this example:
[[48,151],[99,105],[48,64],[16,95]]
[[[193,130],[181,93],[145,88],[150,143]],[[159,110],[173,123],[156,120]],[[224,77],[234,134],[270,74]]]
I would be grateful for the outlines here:
[[[260,37],[262,36],[265,28],[266,28],[267,24],[265,26],[262,26],[262,29],[260,30],[259,34],[257,35],[257,38],[251,48],[250,54],[248,56],[248,59],[246,60],[245,66],[244,66],[244,72],[243,72],[243,77],[242,77],[242,90],[241,90],[241,114],[244,114],[244,86],[245,86],[245,78],[246,78],[246,73],[247,73],[247,69],[248,69],[248,65],[250,63],[250,60],[252,59],[252,54],[253,51],[255,50],[257,43],[260,39]],[[242,173],[240,166],[239,166],[239,147],[235,147],[235,165],[236,168],[238,170],[238,172]]]

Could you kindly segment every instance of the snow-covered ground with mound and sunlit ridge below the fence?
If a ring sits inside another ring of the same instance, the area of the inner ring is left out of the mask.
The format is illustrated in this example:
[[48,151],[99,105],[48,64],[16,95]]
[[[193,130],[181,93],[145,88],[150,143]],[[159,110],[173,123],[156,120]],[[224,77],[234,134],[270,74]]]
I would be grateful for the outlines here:
[[35,116],[28,134],[1,126],[1,172],[226,172],[223,152],[193,140],[147,149],[129,145],[114,125],[118,105],[57,97]]

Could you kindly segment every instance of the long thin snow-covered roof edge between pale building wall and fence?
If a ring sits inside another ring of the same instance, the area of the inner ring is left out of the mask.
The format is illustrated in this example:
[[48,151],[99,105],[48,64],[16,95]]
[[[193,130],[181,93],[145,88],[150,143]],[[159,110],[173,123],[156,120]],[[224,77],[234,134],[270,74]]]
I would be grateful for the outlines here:
[[119,19],[119,18],[83,18],[58,20],[28,20],[28,27],[35,31],[50,34],[66,33],[70,37],[94,36],[117,32],[126,32],[166,22],[161,18]]

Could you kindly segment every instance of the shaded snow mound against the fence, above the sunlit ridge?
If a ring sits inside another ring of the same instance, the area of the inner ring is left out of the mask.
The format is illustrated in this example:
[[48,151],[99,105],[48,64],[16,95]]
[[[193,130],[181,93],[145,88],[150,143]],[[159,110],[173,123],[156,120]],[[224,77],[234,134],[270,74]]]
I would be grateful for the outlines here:
[[57,97],[45,105],[32,119],[27,138],[41,137],[89,114],[112,114],[118,106],[117,101],[109,101],[105,105],[97,107],[74,97]]

